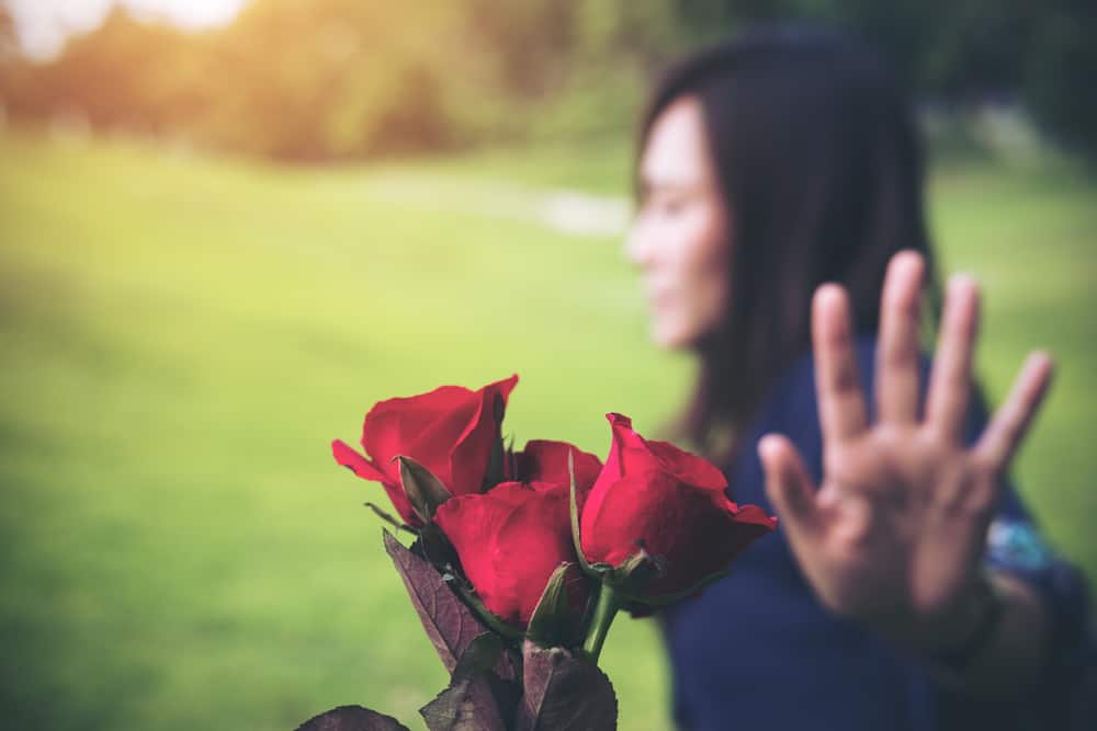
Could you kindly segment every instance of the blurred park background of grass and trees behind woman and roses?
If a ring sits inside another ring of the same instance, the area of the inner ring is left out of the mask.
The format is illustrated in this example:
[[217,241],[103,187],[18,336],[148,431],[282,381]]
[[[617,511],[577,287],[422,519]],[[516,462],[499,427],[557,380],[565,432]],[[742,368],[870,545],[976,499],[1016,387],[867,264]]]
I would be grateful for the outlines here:
[[[1059,362],[1017,481],[1097,576],[1090,3],[0,0],[0,726],[421,728],[445,678],[328,444],[514,372],[519,444],[657,431],[691,364],[621,258],[634,122],[667,59],[774,18],[916,92],[989,395]],[[621,728],[665,728],[619,623]]]

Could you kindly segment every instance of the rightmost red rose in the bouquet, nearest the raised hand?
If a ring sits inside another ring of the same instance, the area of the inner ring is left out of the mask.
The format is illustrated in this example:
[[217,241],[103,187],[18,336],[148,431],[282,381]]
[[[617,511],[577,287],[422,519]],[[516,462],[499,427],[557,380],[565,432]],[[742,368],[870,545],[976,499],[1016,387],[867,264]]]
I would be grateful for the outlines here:
[[626,416],[607,419],[613,444],[580,517],[583,550],[591,563],[619,567],[643,547],[665,568],[644,594],[666,596],[725,571],[777,525],[758,506],[730,501],[726,479],[710,462],[668,442],[645,439]]

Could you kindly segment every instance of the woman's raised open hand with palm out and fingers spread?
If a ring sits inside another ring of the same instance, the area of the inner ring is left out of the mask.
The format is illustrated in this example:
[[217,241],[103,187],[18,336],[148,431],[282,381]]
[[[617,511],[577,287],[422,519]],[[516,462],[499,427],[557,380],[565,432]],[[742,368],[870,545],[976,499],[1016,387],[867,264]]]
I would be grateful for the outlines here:
[[766,489],[808,582],[832,610],[920,650],[962,643],[1002,475],[1036,413],[1050,358],[1031,353],[977,443],[963,442],[979,293],[949,282],[925,414],[918,333],[925,262],[896,254],[887,270],[877,347],[878,419],[870,424],[841,287],[816,292],[812,313],[823,430],[816,490],[792,444],[759,443]]

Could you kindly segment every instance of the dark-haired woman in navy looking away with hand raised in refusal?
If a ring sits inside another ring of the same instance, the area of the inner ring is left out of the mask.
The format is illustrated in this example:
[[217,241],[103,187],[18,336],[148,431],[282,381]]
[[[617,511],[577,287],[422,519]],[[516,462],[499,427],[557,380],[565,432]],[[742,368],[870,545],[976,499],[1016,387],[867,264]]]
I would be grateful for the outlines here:
[[839,35],[760,31],[674,69],[640,140],[627,255],[653,338],[700,357],[681,436],[781,518],[664,617],[678,723],[1064,728],[1085,593],[1004,480],[1051,362],[987,421],[968,277],[919,356],[939,308],[894,80]]

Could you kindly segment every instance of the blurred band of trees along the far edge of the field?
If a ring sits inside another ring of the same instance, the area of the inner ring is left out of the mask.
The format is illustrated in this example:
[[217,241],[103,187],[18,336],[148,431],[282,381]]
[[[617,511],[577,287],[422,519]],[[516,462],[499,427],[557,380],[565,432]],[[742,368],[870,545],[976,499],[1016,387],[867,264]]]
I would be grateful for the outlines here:
[[275,159],[394,155],[553,124],[627,128],[669,56],[800,18],[870,38],[915,91],[952,106],[1024,99],[1093,157],[1094,14],[1090,0],[253,0],[200,34],[115,10],[32,64],[4,58],[14,26],[0,7],[0,96],[15,118],[78,111],[98,128]]

